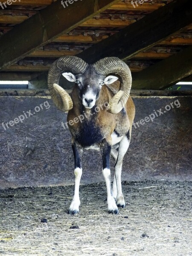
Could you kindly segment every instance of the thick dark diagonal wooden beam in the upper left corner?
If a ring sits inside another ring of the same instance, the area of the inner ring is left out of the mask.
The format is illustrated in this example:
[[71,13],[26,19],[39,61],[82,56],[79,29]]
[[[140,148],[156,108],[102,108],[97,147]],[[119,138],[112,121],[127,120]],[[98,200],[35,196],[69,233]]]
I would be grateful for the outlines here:
[[[119,0],[56,1],[0,37],[0,70],[70,32]],[[81,11],[79,11],[81,10]]]

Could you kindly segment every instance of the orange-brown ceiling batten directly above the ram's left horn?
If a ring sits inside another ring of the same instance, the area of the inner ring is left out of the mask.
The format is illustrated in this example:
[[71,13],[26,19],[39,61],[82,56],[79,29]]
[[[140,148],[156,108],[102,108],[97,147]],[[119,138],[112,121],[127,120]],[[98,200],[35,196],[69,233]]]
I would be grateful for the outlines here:
[[29,57],[42,57],[42,58],[60,58],[64,55],[76,55],[78,53],[80,53],[82,51],[80,50],[73,50],[73,51],[70,51],[70,50],[61,50],[61,51],[58,51],[58,50],[38,50],[38,51],[35,51],[35,52],[32,52]]

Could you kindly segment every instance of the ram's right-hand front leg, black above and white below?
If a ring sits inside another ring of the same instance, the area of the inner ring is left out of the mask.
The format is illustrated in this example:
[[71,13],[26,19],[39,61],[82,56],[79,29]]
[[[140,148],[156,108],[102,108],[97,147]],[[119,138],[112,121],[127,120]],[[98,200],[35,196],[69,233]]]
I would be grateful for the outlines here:
[[110,154],[111,154],[111,145],[105,140],[101,145],[102,150],[102,159],[103,159],[103,176],[105,177],[105,182],[107,186],[108,193],[108,212],[109,213],[118,213],[118,208],[116,206],[115,199],[113,198],[113,192],[111,188],[111,171],[110,171]]

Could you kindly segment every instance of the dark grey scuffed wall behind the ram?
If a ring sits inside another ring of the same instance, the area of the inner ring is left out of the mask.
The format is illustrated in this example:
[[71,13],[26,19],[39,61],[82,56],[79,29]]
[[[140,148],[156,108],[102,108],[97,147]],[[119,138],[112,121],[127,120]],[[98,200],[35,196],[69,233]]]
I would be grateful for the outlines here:
[[[132,93],[135,122],[155,115],[154,110],[159,115],[160,108],[162,114],[153,122],[133,127],[122,180],[192,180],[192,99],[182,92],[177,92],[178,96],[171,96],[172,93]],[[43,109],[38,112],[40,105]],[[166,107],[168,105],[170,107]],[[27,111],[33,115],[29,116]],[[21,117],[22,123],[15,119],[20,115],[25,116]],[[0,92],[1,189],[73,184],[71,136],[61,125],[66,122],[66,116],[55,108],[47,91]],[[10,122],[14,119],[17,124]],[[9,128],[6,125],[3,128],[2,122],[10,122]],[[99,152],[85,151],[82,163],[81,183],[104,180]],[[111,166],[114,166],[113,160]]]

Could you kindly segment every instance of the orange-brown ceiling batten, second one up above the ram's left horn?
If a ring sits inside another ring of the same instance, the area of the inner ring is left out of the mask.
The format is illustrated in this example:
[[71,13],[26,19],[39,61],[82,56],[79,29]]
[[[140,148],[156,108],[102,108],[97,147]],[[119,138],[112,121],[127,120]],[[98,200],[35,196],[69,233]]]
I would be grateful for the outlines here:
[[60,37],[53,40],[53,42],[96,44],[106,38],[108,38],[108,35],[61,35]]

